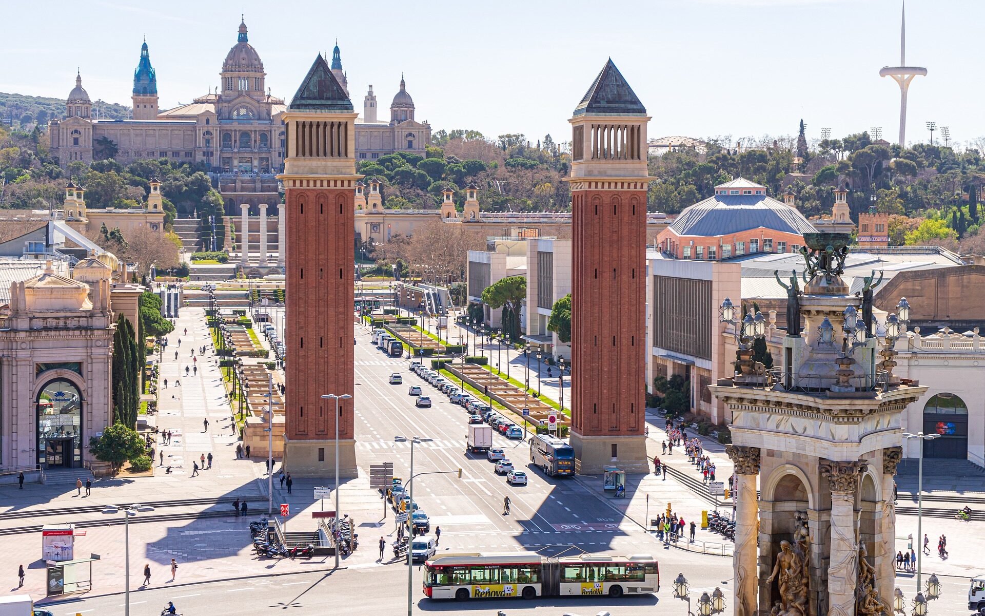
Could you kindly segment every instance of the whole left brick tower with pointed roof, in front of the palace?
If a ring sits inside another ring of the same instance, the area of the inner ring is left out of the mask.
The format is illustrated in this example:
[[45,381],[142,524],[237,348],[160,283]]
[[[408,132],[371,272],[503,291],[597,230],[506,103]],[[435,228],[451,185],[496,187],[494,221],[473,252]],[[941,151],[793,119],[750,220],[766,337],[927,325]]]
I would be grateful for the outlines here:
[[284,467],[299,476],[355,477],[353,305],[356,113],[318,56],[284,114],[287,159],[287,416]]

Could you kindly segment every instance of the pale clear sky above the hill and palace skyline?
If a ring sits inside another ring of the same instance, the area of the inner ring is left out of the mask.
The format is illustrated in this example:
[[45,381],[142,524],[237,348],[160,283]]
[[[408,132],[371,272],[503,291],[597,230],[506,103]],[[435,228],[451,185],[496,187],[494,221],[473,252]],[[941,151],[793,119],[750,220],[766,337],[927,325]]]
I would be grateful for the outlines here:
[[[980,0],[909,0],[908,141],[924,124],[952,139],[985,135]],[[380,115],[400,74],[417,118],[439,128],[531,141],[568,138],[566,119],[612,56],[653,116],[649,136],[834,136],[898,131],[899,91],[879,76],[899,62],[900,0],[7,0],[0,92],[65,98],[76,67],[95,101],[130,103],[144,34],[163,108],[219,84],[245,13],[275,96],[290,101],[335,38],[357,110],[373,85]],[[940,133],[938,133],[940,136]]]

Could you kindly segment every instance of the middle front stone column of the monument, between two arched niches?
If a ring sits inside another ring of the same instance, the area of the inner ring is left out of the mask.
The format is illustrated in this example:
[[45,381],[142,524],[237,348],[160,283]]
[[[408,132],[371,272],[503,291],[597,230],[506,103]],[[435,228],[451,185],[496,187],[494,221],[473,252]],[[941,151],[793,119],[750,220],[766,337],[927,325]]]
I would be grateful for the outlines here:
[[821,460],[821,477],[831,490],[831,549],[827,570],[828,616],[855,616],[859,548],[855,532],[855,494],[864,460]]

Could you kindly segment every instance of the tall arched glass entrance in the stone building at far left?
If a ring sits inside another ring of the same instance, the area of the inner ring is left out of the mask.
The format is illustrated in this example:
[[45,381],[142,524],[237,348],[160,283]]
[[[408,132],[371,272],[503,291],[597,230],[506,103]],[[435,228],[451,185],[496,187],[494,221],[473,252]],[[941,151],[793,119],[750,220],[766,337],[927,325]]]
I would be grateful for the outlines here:
[[37,395],[37,463],[82,464],[82,394],[69,380],[49,380]]

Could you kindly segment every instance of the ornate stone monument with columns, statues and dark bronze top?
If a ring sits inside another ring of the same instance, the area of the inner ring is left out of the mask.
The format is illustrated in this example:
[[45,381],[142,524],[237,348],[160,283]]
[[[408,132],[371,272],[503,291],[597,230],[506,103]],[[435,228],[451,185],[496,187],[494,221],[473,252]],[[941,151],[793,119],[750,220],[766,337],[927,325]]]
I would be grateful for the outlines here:
[[804,327],[784,339],[782,368],[709,387],[732,411],[735,613],[886,616],[902,411],[927,387],[877,366],[863,299],[840,277],[848,237],[805,240],[804,291],[790,285],[800,318],[788,319]]

